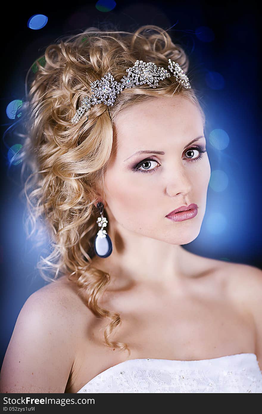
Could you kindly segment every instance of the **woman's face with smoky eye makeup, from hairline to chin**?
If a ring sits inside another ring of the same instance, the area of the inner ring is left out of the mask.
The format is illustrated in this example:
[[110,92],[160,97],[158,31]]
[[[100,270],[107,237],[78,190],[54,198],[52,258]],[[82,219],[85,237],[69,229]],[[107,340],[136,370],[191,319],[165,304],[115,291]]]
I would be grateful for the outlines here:
[[[179,245],[198,236],[210,178],[207,152],[200,152],[206,149],[203,128],[199,109],[180,96],[135,104],[115,117],[104,201],[118,229]],[[191,203],[198,206],[192,219],[165,217]]]

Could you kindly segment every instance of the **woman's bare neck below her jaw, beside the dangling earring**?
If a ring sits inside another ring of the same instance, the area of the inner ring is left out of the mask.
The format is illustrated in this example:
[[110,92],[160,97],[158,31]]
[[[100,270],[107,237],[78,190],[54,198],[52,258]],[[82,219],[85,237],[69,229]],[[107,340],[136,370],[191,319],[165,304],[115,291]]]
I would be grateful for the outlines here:
[[[108,258],[93,259],[93,265],[123,282],[160,284],[167,288],[179,284],[188,275],[189,256],[182,246],[166,243],[131,232],[110,221],[113,251]],[[191,272],[192,273],[192,272]]]

